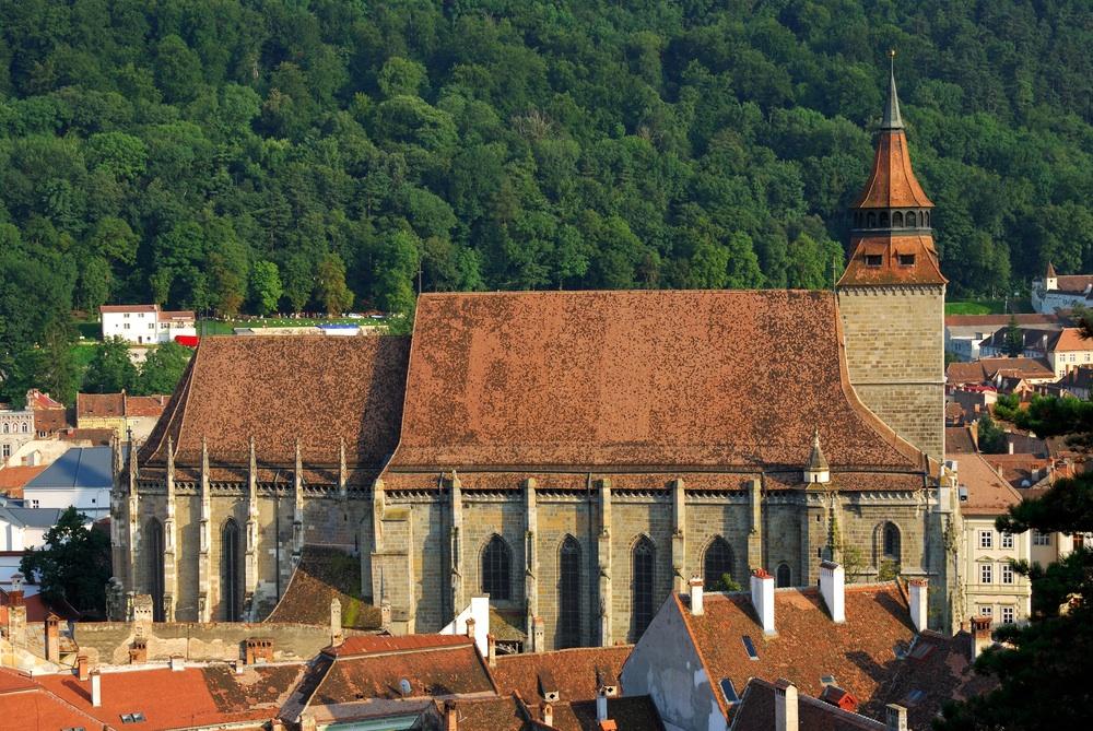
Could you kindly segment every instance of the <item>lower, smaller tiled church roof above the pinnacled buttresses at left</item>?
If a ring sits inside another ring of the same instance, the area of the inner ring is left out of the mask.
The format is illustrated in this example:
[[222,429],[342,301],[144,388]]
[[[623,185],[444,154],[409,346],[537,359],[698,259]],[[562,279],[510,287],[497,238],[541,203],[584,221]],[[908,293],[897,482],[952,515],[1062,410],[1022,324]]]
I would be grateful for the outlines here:
[[[176,461],[246,465],[254,437],[259,463],[337,465],[345,440],[352,467],[378,468],[395,449],[402,412],[406,338],[204,338],[171,403],[141,449],[163,467],[167,436]],[[244,475],[245,479],[245,475]]]

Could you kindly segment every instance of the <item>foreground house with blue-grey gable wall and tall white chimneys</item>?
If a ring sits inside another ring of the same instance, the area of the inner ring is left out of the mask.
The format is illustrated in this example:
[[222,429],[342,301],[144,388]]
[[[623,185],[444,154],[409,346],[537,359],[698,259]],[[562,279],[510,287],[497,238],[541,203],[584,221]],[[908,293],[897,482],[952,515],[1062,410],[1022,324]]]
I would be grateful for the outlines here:
[[761,569],[748,591],[703,583],[665,601],[623,665],[626,693],[649,695],[666,728],[728,729],[752,679],[785,679],[873,720],[897,704],[910,728],[927,729],[975,682],[966,636],[927,628],[925,580],[847,585],[824,562],[819,588],[775,589]]

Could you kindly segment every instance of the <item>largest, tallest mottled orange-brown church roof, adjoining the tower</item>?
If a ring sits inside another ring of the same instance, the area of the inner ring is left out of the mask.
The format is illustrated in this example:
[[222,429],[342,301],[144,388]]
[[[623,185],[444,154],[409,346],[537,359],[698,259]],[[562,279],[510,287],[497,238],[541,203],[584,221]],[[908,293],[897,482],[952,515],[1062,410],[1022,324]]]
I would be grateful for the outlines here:
[[835,469],[921,464],[849,387],[831,293],[426,294],[389,469],[800,468],[813,427]]

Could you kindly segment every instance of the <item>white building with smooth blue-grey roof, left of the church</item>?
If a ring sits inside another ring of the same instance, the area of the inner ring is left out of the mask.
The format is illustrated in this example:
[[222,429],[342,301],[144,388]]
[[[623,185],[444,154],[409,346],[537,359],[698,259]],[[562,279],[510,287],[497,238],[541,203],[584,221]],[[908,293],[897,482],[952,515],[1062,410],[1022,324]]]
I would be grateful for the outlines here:
[[73,447],[23,486],[23,500],[35,508],[75,507],[91,520],[110,514],[114,483],[110,447]]

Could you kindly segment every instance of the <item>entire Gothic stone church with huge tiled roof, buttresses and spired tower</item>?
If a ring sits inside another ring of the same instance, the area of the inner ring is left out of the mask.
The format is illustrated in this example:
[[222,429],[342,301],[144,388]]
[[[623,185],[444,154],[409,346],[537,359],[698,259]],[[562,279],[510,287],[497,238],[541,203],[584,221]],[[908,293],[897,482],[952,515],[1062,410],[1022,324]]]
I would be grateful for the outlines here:
[[693,573],[809,586],[850,547],[950,626],[931,210],[893,82],[835,293],[424,294],[412,339],[203,339],[117,471],[115,576],[157,618],[258,618],[324,544],[399,634],[487,593],[542,651],[633,641]]

